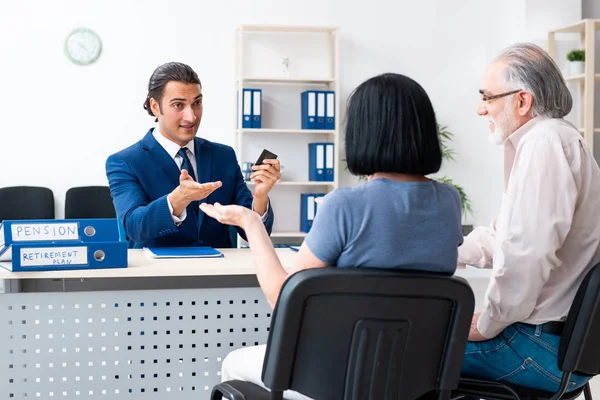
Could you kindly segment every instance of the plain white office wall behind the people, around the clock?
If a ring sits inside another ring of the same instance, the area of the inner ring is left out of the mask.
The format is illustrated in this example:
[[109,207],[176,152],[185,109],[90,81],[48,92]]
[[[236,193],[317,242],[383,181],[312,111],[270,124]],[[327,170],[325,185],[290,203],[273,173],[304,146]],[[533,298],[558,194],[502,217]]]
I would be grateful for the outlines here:
[[[580,0],[553,3],[3,0],[0,187],[48,186],[62,217],[69,187],[106,184],[106,157],[152,126],[141,107],[145,85],[167,61],[190,64],[203,82],[199,134],[233,145],[236,26],[335,25],[342,33],[341,101],[382,72],[420,82],[439,122],[456,135],[457,162],[442,173],[471,196],[470,222],[487,225],[500,204],[503,169],[501,148],[488,144],[486,124],[475,114],[481,75],[503,46],[543,39],[546,29],[580,18]],[[94,29],[103,40],[94,65],[75,66],[63,54],[64,39],[77,26]],[[342,179],[355,182],[347,174]]]

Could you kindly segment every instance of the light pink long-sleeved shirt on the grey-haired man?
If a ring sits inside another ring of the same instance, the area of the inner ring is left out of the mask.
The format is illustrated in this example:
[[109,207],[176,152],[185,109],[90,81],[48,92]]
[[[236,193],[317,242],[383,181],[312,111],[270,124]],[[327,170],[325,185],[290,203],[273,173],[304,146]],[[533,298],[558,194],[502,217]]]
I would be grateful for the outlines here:
[[492,267],[479,332],[566,318],[600,262],[600,169],[563,119],[536,117],[504,142],[505,192],[490,228],[458,249],[459,263]]

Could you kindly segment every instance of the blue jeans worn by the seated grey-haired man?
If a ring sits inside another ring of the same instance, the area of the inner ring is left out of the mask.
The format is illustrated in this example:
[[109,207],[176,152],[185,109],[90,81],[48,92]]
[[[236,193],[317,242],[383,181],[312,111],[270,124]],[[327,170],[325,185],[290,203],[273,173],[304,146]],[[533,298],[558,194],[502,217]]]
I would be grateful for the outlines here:
[[[468,342],[461,375],[556,392],[562,371],[558,368],[560,336],[540,327],[516,323],[484,342]],[[591,377],[571,375],[567,391]]]

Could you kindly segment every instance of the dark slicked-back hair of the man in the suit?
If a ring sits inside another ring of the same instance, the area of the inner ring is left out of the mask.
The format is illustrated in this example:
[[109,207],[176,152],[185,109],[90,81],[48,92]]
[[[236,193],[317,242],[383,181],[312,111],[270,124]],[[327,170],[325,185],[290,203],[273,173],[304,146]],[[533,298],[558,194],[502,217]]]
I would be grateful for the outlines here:
[[[192,67],[189,65],[179,62],[169,62],[156,68],[148,81],[148,96],[144,101],[144,110],[154,117],[152,109],[150,108],[150,99],[154,99],[158,102],[160,107],[163,94],[165,92],[165,86],[167,83],[175,81],[182,83],[194,83],[200,85],[200,78],[194,72]],[[158,119],[157,119],[158,121]]]

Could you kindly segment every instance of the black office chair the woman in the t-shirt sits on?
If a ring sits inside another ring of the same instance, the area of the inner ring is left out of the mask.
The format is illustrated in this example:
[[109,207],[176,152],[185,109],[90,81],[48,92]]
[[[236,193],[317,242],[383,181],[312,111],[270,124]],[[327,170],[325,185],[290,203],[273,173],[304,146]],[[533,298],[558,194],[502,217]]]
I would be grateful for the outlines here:
[[458,385],[474,296],[462,278],[373,268],[300,271],[271,319],[262,380],[213,388],[212,399],[448,398]]

